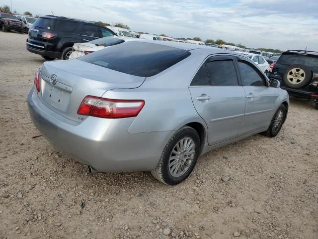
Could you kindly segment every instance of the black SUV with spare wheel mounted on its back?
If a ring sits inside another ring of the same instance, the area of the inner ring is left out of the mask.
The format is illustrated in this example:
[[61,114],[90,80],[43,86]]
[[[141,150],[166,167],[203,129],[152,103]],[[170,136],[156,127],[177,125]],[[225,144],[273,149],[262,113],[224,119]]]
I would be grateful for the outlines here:
[[316,102],[318,109],[318,52],[288,50],[270,65],[268,77],[279,80],[290,96]]

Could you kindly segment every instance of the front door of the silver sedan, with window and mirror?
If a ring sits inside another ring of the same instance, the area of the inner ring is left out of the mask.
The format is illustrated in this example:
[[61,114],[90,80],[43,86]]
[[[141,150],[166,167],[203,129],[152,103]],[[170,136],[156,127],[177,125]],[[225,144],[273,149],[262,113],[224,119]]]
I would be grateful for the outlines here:
[[255,65],[243,57],[237,57],[237,63],[246,94],[245,114],[238,133],[240,136],[268,127],[278,95],[276,88],[267,87],[265,76]]

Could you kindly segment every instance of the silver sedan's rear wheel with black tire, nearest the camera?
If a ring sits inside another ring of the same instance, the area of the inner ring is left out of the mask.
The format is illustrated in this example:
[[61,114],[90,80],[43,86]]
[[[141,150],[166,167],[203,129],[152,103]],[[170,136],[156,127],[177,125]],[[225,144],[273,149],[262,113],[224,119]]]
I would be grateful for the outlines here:
[[[183,146],[183,143],[188,146]],[[189,126],[181,127],[165,145],[157,167],[151,171],[152,175],[167,185],[181,183],[192,172],[200,155],[200,147],[197,131]]]

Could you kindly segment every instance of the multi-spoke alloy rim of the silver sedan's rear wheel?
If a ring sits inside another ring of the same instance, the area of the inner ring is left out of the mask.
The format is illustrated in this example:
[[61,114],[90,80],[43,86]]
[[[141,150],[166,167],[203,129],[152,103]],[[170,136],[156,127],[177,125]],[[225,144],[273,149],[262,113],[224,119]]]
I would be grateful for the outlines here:
[[192,138],[184,137],[173,147],[168,168],[171,176],[182,176],[191,166],[195,155],[195,143]]

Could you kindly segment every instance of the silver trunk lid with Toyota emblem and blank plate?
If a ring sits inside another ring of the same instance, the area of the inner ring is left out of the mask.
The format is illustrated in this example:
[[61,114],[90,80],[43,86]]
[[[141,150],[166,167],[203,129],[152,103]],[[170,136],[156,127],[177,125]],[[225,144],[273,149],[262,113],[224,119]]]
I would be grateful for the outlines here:
[[42,103],[57,114],[77,122],[77,114],[88,95],[101,97],[107,90],[131,89],[143,84],[145,77],[132,76],[79,60],[45,62],[41,69]]

